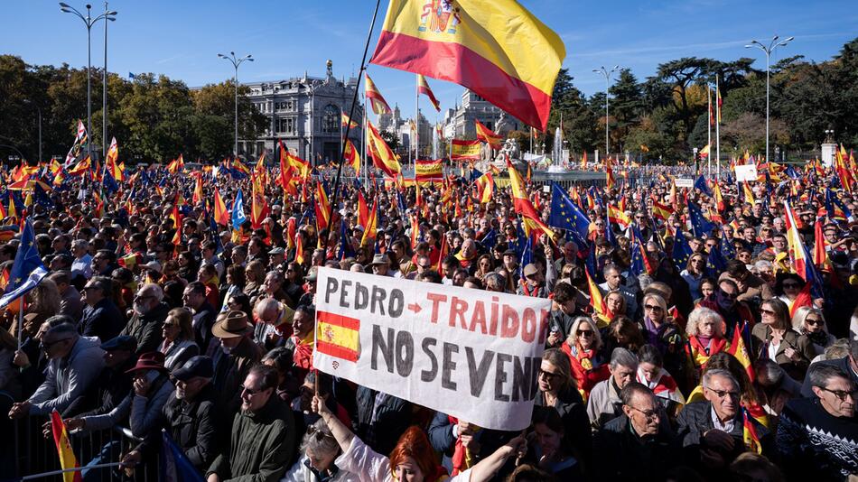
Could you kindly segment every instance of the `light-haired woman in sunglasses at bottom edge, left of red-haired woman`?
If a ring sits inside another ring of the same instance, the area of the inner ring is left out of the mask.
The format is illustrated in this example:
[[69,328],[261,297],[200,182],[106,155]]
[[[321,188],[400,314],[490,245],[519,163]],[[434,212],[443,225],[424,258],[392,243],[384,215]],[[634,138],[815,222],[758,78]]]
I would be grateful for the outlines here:
[[337,457],[340,455],[340,444],[322,419],[307,427],[301,441],[301,454],[280,482],[360,480],[357,475],[339,468],[341,464],[337,463]]

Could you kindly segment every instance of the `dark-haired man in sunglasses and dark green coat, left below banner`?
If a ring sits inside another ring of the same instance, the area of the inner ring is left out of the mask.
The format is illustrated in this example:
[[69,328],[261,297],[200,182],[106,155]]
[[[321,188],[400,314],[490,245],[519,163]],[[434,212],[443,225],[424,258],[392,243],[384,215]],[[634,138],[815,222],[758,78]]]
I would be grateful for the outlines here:
[[234,478],[279,480],[292,465],[297,439],[294,415],[275,394],[276,388],[275,368],[250,368],[239,387],[241,412],[232,422],[227,449],[206,474],[208,482]]

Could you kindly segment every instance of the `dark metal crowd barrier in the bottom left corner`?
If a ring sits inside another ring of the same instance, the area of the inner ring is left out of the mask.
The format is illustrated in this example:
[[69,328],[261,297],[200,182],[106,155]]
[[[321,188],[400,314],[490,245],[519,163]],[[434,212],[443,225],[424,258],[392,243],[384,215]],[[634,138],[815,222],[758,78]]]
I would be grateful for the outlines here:
[[[0,393],[0,401],[4,399],[2,395]],[[8,421],[7,418],[5,420]],[[9,433],[11,436],[0,436],[0,481],[25,477],[62,482],[62,475],[56,473],[61,469],[56,444],[50,434],[48,438],[42,435],[42,426],[49,420],[48,417],[29,416],[9,421],[10,425],[14,425],[14,429],[2,433]],[[69,441],[82,468],[84,482],[154,482],[159,479],[159,451],[154,451],[149,459],[137,465],[130,475],[122,468],[103,467],[105,464],[118,462],[141,441],[125,427],[115,426],[103,431],[72,431]]]

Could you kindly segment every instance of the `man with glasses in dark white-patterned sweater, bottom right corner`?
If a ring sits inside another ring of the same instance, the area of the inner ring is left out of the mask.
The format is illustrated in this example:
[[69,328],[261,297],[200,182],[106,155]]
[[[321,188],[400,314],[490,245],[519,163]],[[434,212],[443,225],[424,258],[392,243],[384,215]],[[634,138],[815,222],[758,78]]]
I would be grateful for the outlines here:
[[807,380],[814,396],[790,400],[780,413],[777,446],[784,473],[845,480],[858,473],[858,391],[837,366],[814,364]]

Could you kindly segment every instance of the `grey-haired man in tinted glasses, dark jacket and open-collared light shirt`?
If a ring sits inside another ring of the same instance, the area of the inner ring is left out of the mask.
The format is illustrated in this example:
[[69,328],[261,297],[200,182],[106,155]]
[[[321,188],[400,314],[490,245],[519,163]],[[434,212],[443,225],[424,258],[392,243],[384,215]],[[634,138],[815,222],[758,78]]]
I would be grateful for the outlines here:
[[[676,419],[676,432],[688,462],[717,474],[727,470],[732,460],[747,450],[742,439],[740,385],[730,372],[716,368],[704,373],[702,386],[706,400],[685,405]],[[748,421],[766,450],[770,439],[768,429],[753,417],[749,416]],[[719,478],[723,477],[713,477]]]

